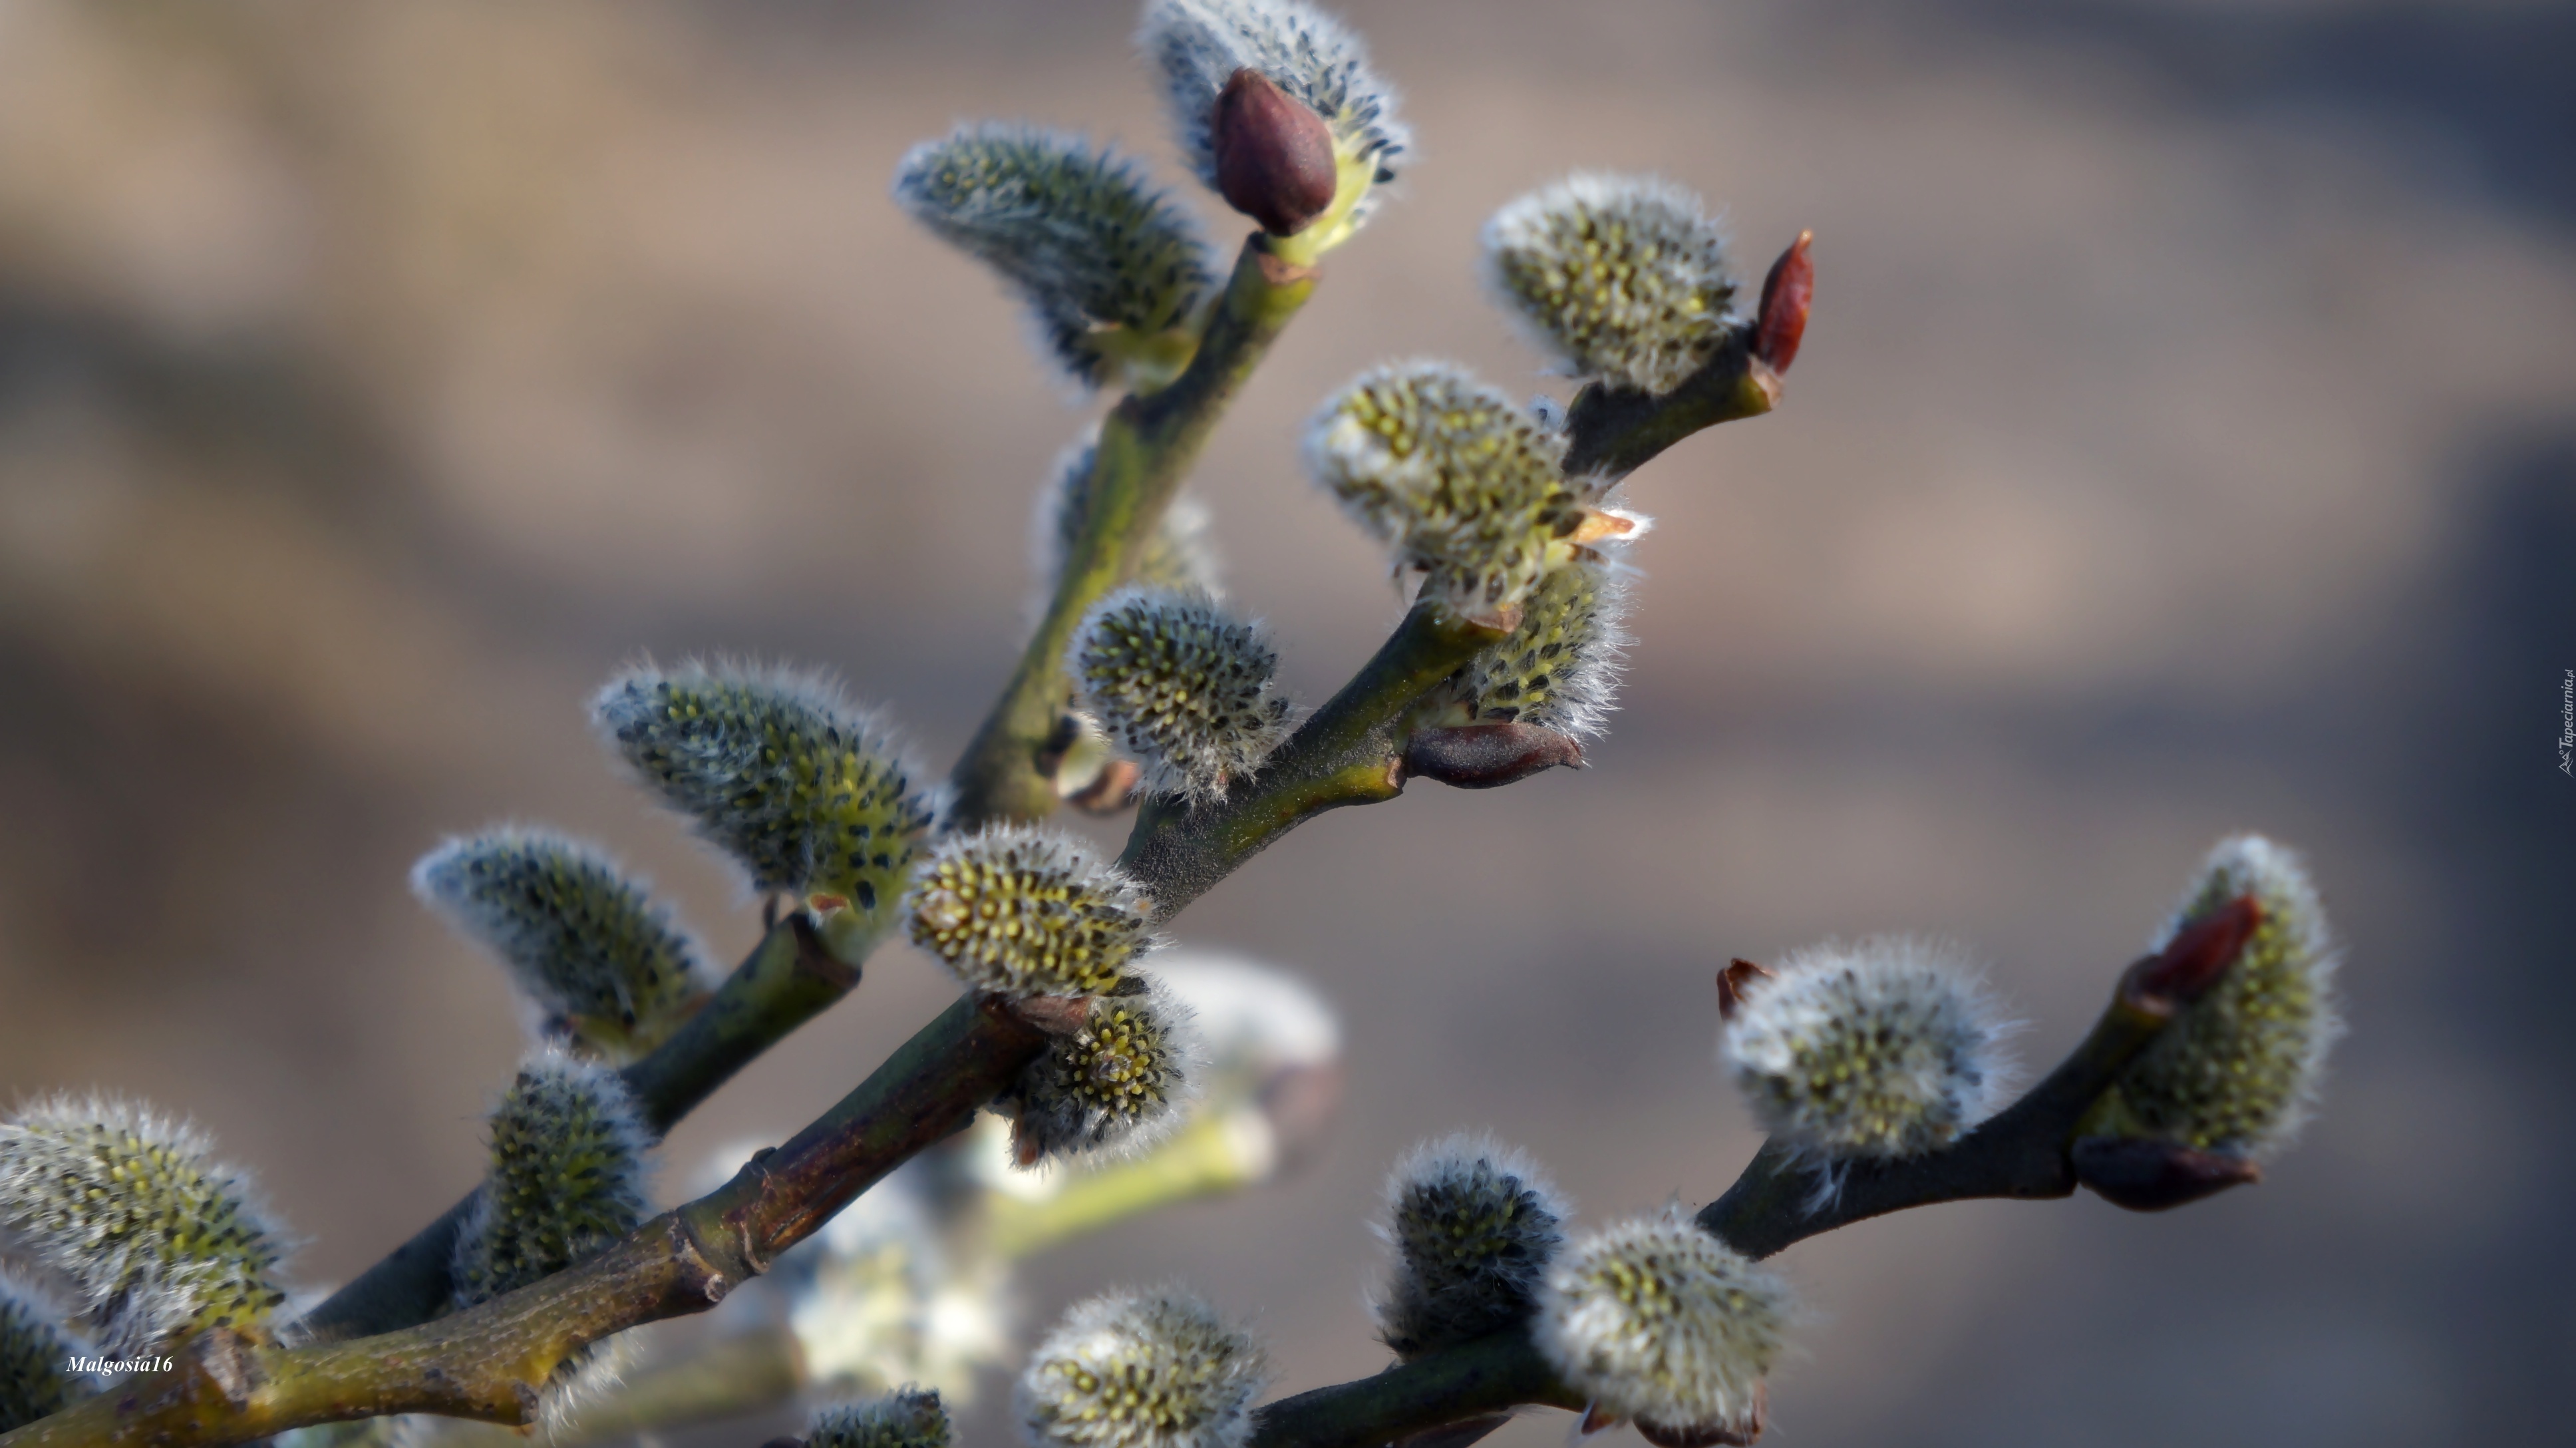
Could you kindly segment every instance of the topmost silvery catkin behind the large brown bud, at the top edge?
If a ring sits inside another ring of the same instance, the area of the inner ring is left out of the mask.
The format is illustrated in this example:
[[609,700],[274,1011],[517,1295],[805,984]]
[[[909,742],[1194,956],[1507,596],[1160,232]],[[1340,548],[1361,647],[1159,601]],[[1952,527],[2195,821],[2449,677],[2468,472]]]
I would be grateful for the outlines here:
[[[1347,26],[1298,0],[1149,0],[1139,46],[1157,62],[1180,149],[1198,178],[1216,186],[1216,95],[1236,70],[1324,116],[1332,149],[1368,183],[1396,178],[1409,134],[1396,121],[1394,90],[1368,64]],[[1368,201],[1352,219],[1365,216]]]

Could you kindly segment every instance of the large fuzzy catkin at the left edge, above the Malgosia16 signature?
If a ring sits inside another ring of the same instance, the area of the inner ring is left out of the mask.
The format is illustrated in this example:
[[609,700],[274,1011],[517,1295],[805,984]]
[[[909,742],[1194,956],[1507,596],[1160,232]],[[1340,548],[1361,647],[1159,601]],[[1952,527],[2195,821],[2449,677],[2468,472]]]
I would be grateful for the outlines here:
[[46,1098],[0,1123],[0,1239],[77,1296],[111,1358],[209,1327],[263,1332],[286,1237],[193,1126],[111,1098]]

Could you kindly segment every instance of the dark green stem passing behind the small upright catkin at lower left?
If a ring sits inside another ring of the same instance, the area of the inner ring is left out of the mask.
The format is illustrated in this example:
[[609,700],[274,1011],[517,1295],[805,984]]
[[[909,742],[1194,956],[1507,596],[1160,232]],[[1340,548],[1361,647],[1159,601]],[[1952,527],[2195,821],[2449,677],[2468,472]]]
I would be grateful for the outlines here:
[[[670,1131],[742,1067],[775,1046],[858,984],[858,969],[822,948],[804,915],[770,925],[708,1002],[654,1054],[621,1074],[654,1136]],[[394,1247],[296,1324],[322,1340],[368,1337],[446,1311],[456,1283],[448,1262],[456,1229],[482,1188]]]

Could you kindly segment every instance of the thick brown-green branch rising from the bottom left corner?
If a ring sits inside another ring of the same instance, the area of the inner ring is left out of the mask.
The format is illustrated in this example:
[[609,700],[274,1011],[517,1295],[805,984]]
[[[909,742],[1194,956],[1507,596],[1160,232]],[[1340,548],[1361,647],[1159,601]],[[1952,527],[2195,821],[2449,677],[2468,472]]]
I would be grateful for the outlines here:
[[580,1268],[348,1342],[289,1348],[214,1329],[167,1373],[129,1378],[0,1435],[0,1445],[222,1445],[392,1412],[531,1422],[574,1353],[716,1306],[868,1185],[963,1129],[1043,1043],[1002,1000],[963,997],[786,1147],[755,1154],[724,1188],[654,1216]]

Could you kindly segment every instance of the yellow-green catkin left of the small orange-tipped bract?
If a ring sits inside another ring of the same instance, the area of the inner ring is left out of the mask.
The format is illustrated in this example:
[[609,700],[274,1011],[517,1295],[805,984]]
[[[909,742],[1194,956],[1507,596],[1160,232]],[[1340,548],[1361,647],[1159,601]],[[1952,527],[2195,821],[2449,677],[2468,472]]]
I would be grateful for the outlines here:
[[1437,361],[1363,374],[1306,430],[1316,482],[1466,616],[1517,608],[1574,557],[1592,502],[1564,456],[1564,435]]

